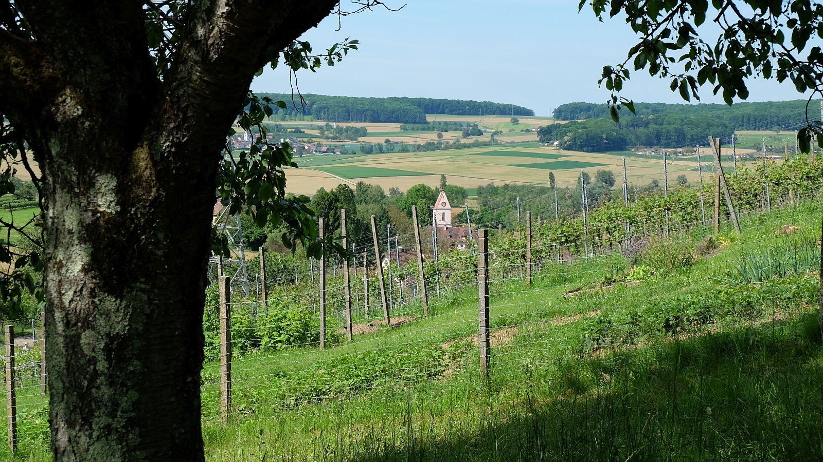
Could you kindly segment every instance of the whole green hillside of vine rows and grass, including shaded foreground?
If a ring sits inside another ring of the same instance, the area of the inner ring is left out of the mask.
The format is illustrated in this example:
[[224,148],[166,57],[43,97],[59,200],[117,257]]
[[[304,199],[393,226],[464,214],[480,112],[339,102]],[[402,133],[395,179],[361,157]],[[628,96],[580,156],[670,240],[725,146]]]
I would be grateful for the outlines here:
[[[267,255],[266,303],[207,289],[207,459],[820,459],[820,163],[728,171],[741,233],[723,199],[714,233],[706,173],[465,249],[389,229],[347,262]],[[39,323],[12,323],[26,460],[50,457]]]

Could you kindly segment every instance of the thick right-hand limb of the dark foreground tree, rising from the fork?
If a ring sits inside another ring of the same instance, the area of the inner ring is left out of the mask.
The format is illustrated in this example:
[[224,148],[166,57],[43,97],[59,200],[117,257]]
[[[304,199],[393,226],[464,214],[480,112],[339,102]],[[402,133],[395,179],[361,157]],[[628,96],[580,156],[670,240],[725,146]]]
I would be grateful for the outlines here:
[[226,127],[241,109],[254,73],[336,5],[337,0],[193,4],[157,108],[157,130],[165,133],[154,142],[185,147],[178,155],[193,156],[180,160],[216,167],[214,156],[226,144]]

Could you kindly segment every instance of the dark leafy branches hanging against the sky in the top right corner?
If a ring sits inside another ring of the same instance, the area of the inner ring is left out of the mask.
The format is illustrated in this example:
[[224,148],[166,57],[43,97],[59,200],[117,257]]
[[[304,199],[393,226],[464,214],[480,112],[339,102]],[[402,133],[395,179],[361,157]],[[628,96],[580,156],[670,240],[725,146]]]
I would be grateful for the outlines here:
[[[599,83],[611,91],[607,101],[617,121],[622,108],[636,112],[631,99],[619,96],[631,72],[646,70],[670,81],[686,101],[700,100],[700,86],[712,85],[726,104],[749,96],[746,81],[754,76],[791,81],[809,100],[823,95],[823,9],[809,0],[581,0],[602,21],[625,16],[639,36],[625,61],[603,67]],[[699,30],[709,18],[719,27],[714,39]],[[801,150],[810,150],[811,136],[823,147],[823,122],[807,120],[798,133]]]

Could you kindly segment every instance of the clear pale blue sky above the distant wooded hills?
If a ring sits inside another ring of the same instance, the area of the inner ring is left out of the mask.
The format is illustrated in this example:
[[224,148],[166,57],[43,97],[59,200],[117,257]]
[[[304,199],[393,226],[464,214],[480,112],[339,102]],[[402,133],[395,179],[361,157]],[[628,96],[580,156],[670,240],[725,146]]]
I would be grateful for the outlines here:
[[[348,6],[343,0],[344,7]],[[402,2],[387,0],[399,7]],[[621,19],[597,22],[577,0],[410,0],[399,12],[382,8],[342,18],[330,16],[301,39],[315,50],[346,37],[360,50],[334,67],[299,72],[303,93],[346,96],[417,96],[520,104],[551,115],[560,104],[602,103],[602,67],[625,59],[635,35]],[[701,31],[702,32],[702,31]],[[709,25],[707,33],[715,32]],[[706,36],[707,41],[708,35]],[[714,33],[716,37],[716,32]],[[714,42],[714,39],[710,40]],[[622,95],[635,101],[681,103],[669,81],[633,74]],[[799,99],[788,84],[750,81],[749,101]],[[255,91],[291,92],[288,72],[267,68]],[[704,103],[722,103],[701,91]]]

